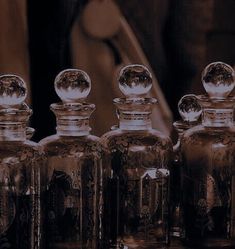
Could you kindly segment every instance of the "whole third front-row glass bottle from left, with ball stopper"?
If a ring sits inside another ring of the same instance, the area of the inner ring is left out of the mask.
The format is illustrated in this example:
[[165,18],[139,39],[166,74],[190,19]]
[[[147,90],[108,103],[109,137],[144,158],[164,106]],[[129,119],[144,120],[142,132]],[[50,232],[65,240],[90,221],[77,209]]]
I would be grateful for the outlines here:
[[[114,99],[119,125],[101,141],[109,151],[104,181],[104,233],[108,248],[155,248],[168,243],[169,162],[172,144],[152,129],[156,99],[147,98],[152,77],[142,65],[124,67]],[[106,248],[106,247],[105,247]]]

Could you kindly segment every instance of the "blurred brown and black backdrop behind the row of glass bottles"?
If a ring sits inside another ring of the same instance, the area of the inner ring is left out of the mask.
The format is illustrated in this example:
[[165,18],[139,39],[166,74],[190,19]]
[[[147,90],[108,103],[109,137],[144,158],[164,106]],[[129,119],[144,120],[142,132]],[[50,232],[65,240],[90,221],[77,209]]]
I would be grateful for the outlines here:
[[147,65],[159,100],[154,127],[170,134],[179,99],[204,92],[203,68],[235,65],[235,0],[0,0],[0,32],[0,74],[27,82],[35,141],[55,132],[49,106],[60,101],[54,79],[63,69],[90,75],[91,125],[101,135],[117,123],[120,68]]

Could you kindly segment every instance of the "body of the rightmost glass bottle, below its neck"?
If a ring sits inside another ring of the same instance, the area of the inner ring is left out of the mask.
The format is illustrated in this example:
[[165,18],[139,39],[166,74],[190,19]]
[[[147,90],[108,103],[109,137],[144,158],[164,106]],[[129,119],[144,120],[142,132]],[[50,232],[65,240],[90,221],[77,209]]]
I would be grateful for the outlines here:
[[196,126],[181,143],[183,240],[234,248],[234,128]]

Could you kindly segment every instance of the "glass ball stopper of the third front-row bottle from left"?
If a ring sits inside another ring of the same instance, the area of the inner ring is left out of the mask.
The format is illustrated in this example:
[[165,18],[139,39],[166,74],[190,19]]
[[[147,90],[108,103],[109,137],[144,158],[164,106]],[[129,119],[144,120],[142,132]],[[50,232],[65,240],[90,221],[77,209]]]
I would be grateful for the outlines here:
[[143,65],[128,65],[120,71],[119,88],[127,97],[140,97],[152,87],[152,75]]

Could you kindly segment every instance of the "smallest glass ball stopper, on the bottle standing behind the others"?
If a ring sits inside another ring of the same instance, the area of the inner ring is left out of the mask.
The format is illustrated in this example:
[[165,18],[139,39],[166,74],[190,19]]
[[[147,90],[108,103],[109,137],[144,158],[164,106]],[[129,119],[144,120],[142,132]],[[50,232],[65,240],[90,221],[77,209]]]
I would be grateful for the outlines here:
[[197,121],[202,113],[201,105],[194,94],[184,95],[178,103],[178,110],[182,119],[187,122]]

